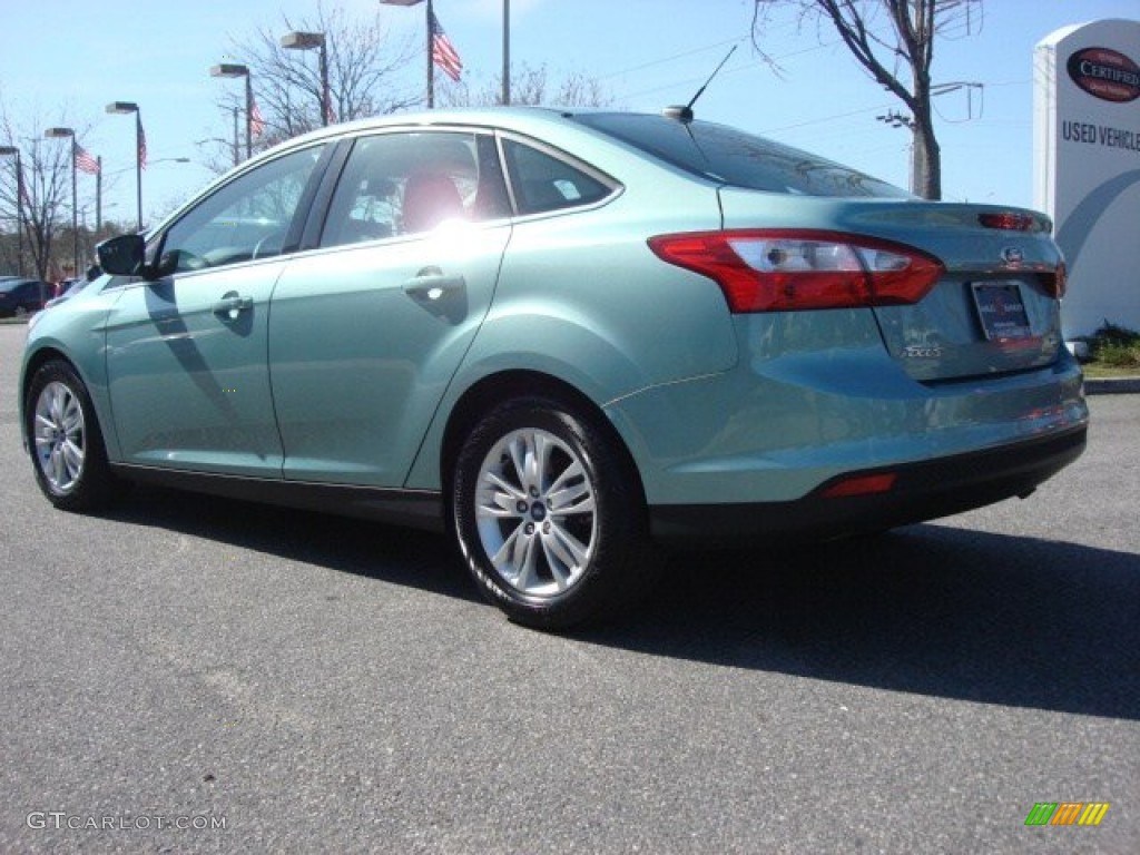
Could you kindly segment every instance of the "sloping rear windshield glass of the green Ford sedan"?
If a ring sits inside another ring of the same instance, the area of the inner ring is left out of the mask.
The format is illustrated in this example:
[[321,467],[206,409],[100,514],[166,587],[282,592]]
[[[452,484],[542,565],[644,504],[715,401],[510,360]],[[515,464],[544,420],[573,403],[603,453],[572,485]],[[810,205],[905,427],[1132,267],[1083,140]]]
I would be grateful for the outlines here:
[[573,119],[686,172],[733,187],[803,196],[910,196],[886,181],[723,124],[685,124],[632,113],[586,113]]

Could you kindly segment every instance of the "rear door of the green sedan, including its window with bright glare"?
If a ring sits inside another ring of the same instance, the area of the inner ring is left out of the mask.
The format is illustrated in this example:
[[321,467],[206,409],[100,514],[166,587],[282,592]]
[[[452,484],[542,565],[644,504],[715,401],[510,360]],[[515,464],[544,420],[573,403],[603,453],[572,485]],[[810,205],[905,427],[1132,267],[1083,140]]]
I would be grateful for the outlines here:
[[494,138],[353,142],[323,249],[274,293],[269,355],[286,479],[398,487],[490,306],[511,234]]

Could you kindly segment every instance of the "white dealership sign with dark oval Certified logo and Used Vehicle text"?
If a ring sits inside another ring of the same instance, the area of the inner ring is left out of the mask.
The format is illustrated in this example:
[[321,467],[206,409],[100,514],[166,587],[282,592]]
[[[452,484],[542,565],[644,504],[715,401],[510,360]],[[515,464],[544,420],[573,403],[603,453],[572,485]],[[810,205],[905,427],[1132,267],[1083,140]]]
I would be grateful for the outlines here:
[[1065,335],[1140,328],[1140,21],[1068,26],[1034,56],[1034,205],[1068,261]]

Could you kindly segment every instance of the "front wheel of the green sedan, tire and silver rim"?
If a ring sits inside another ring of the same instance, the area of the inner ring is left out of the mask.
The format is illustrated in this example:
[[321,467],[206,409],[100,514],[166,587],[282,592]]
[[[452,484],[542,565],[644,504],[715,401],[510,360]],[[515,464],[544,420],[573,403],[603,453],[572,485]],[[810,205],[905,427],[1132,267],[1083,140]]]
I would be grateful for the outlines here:
[[35,482],[52,505],[95,511],[119,495],[122,483],[111,473],[91,397],[67,363],[36,369],[24,417]]

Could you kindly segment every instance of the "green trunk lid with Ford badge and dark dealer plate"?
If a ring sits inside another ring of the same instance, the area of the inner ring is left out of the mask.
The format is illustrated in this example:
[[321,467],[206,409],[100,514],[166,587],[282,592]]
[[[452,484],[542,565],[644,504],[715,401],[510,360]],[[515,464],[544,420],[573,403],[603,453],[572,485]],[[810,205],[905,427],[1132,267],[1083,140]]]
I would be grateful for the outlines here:
[[883,345],[919,381],[1029,370],[1062,347],[1061,254],[1043,214],[994,205],[846,199],[720,189],[723,225],[866,235],[935,256],[945,274],[918,303],[874,312]]

